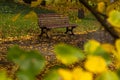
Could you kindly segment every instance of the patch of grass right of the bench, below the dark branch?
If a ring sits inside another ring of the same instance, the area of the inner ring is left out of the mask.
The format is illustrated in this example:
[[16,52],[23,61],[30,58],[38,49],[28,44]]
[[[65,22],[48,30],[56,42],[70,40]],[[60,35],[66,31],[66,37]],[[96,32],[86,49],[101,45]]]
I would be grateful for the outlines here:
[[81,19],[77,23],[79,27],[76,29],[76,32],[93,31],[101,28],[100,23],[91,14],[87,14],[84,19]]

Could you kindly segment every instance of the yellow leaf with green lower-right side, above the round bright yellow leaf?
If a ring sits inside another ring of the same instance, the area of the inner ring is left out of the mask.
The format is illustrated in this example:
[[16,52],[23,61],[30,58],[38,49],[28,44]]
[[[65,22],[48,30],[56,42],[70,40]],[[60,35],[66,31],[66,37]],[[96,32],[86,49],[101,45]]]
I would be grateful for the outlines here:
[[95,40],[88,41],[88,43],[84,45],[84,49],[88,55],[101,56],[106,60],[107,64],[111,62],[110,55],[103,49],[100,43]]

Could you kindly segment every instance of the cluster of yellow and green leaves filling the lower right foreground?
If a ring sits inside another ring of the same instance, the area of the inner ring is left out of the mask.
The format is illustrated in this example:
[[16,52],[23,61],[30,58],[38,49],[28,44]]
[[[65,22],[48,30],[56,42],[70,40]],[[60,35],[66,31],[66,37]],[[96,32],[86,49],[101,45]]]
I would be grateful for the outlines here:
[[[77,61],[82,61],[83,66],[78,64],[78,66],[75,66],[72,69],[69,68],[52,69],[44,77],[44,79],[45,80],[59,80],[59,79],[119,80],[120,79],[119,78],[120,76],[120,53],[119,53],[120,46],[119,45],[120,45],[120,39],[116,41],[115,46],[112,46],[110,44],[100,44],[95,40],[90,40],[84,45],[84,52],[83,52],[70,45],[59,44],[55,47],[55,54],[59,61],[61,61],[63,64],[67,66],[70,66],[71,64],[74,64]],[[78,53],[79,51],[81,52]],[[84,55],[84,57],[76,59],[77,58],[76,54],[81,56]],[[113,57],[111,56],[114,56],[115,58],[114,61],[112,59]],[[109,66],[115,67],[115,69],[111,70]]]

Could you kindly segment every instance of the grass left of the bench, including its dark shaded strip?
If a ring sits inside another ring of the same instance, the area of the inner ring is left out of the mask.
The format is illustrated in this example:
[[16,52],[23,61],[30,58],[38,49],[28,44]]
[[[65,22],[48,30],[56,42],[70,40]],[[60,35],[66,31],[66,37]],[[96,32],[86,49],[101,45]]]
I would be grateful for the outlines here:
[[[31,8],[17,3],[0,3],[0,38],[39,33],[37,18],[24,18],[30,11],[35,11],[36,13],[53,12],[45,9]],[[21,15],[13,22],[12,19],[19,13]]]

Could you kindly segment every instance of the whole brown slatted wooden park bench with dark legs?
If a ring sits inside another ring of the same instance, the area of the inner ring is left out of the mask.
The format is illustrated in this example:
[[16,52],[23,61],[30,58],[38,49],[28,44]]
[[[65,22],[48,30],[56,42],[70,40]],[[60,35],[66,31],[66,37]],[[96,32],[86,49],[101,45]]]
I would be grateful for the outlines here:
[[48,31],[52,28],[66,28],[66,34],[74,34],[73,29],[77,26],[76,24],[70,24],[69,18],[61,14],[47,13],[38,15],[38,25],[41,29],[40,37],[45,34],[48,36]]

